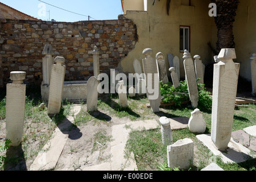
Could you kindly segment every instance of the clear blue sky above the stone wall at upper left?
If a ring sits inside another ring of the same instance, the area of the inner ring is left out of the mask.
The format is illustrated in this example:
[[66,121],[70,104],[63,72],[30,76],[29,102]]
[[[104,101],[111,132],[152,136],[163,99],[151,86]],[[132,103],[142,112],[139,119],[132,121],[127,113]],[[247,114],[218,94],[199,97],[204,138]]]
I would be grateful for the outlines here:
[[90,20],[118,19],[118,15],[123,14],[121,0],[0,0],[0,2],[35,18],[54,19],[57,22],[78,22],[88,20],[88,16]]

